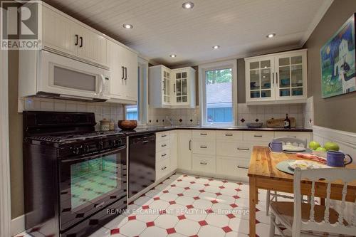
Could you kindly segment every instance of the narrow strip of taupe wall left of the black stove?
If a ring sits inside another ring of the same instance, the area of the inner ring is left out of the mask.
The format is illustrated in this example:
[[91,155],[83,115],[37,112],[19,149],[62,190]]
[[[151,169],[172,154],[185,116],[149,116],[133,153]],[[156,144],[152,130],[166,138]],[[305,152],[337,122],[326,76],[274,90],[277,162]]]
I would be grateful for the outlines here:
[[22,114],[17,112],[19,51],[9,51],[11,218],[23,215]]

